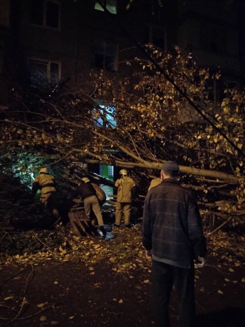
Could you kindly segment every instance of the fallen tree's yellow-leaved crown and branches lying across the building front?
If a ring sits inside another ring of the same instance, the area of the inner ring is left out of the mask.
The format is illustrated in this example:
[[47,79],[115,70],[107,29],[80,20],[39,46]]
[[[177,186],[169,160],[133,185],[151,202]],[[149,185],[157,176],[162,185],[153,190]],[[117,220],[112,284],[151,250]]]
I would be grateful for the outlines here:
[[[197,67],[191,53],[177,47],[172,54],[150,45],[147,49],[241,149],[245,91],[223,90],[220,101],[214,101],[211,85],[220,79],[220,72]],[[132,75],[94,72],[86,83],[47,97],[14,91],[12,107],[3,112],[1,121],[3,150],[11,145],[37,154],[44,151],[68,168],[80,162],[104,163],[150,169],[152,175],[162,162],[174,160],[181,165],[183,178],[188,177],[186,183],[201,187],[204,200],[205,194],[208,197],[211,189],[217,189],[237,200],[228,210],[241,209],[243,159],[237,151],[149,61],[135,58],[121,70],[127,67]]]

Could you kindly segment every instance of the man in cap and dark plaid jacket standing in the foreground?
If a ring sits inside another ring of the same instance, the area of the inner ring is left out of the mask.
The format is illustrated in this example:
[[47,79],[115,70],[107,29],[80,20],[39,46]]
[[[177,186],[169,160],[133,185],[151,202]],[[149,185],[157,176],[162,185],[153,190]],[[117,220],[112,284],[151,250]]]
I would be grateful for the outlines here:
[[168,305],[173,284],[179,326],[194,326],[194,259],[203,267],[207,252],[197,202],[177,181],[178,173],[176,163],[164,163],[161,183],[147,193],[144,203],[142,235],[146,258],[153,259],[156,327],[170,326]]

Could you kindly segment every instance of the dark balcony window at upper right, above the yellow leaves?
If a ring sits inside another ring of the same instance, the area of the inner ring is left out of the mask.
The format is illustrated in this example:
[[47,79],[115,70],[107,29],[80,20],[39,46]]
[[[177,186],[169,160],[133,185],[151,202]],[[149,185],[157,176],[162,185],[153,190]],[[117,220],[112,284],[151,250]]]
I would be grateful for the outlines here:
[[227,52],[227,33],[225,29],[202,24],[200,34],[200,43],[203,49],[216,53]]

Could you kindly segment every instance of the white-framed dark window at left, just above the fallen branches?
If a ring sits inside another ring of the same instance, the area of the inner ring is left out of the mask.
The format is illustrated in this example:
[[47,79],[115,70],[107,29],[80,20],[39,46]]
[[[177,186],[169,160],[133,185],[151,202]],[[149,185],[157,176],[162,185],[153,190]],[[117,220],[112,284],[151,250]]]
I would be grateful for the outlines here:
[[53,88],[60,80],[61,64],[59,62],[30,59],[29,73],[32,87]]

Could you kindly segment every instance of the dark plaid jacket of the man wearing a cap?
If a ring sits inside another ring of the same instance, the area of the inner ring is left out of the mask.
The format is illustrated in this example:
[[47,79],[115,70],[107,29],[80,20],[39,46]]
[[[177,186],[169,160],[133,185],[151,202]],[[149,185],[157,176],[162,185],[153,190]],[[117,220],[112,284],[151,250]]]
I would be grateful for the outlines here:
[[143,245],[163,259],[204,257],[206,239],[196,200],[178,181],[164,179],[148,191],[143,211]]

